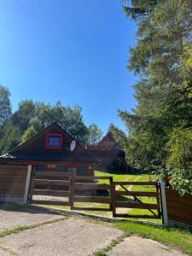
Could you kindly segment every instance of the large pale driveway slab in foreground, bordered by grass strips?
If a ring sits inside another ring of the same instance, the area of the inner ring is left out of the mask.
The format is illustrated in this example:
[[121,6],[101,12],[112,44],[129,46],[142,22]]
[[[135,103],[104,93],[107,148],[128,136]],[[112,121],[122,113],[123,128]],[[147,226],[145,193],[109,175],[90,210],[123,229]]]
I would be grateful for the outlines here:
[[0,238],[0,255],[90,255],[96,249],[108,246],[111,240],[120,235],[120,230],[67,218]]

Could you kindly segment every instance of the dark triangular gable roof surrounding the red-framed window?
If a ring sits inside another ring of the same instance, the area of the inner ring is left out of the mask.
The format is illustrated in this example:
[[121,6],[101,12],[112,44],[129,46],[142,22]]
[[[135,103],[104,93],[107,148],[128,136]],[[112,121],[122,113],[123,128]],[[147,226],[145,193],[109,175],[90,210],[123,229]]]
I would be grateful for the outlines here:
[[[45,140],[47,133],[61,133],[63,143],[61,149],[46,149]],[[76,141],[77,146],[72,151],[69,150],[71,142],[75,140],[65,131],[61,125],[53,123],[38,134],[29,138],[24,143],[20,143],[17,147],[10,150],[7,154],[0,156],[0,160],[32,160],[32,161],[64,161],[64,162],[80,162],[80,163],[100,163],[88,149],[84,148]]]

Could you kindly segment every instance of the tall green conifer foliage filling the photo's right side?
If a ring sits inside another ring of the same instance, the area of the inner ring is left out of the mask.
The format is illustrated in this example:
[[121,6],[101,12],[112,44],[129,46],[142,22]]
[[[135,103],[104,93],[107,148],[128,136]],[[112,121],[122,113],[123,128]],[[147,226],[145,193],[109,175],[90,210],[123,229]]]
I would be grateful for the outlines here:
[[[119,110],[129,131],[127,159],[139,169],[170,172],[175,187],[189,192],[189,183],[178,185],[178,176],[174,175],[180,170],[183,180],[190,179],[189,166],[181,158],[178,166],[170,165],[178,144],[172,144],[173,148],[167,145],[173,135],[189,136],[192,127],[191,1],[123,2],[125,14],[137,23],[137,44],[130,49],[128,68],[140,77],[133,86],[137,108],[132,113]],[[191,150],[184,141],[179,147],[184,152]]]

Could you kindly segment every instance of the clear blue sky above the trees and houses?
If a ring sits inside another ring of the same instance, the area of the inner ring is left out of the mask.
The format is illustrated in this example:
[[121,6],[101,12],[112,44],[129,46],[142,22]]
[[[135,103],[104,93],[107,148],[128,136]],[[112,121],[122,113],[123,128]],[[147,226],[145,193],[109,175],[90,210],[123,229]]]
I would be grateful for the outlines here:
[[0,84],[24,99],[83,108],[87,125],[123,127],[135,105],[126,69],[136,27],[121,0],[1,0]]

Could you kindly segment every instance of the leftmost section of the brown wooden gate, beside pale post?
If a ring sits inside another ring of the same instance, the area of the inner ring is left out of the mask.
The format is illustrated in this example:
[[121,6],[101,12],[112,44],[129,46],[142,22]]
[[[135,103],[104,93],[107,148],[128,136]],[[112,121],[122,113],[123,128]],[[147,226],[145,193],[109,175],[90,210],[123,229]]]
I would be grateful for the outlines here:
[[32,172],[29,202],[72,206],[72,177],[73,174],[67,172]]

